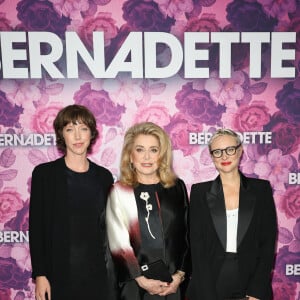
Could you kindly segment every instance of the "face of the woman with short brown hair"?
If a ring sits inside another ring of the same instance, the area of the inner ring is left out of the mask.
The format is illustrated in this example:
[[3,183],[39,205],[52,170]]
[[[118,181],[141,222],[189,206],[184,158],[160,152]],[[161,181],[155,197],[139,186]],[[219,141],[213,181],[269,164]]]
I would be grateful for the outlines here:
[[86,155],[91,142],[90,128],[81,123],[72,122],[63,128],[63,137],[66,144],[66,155]]

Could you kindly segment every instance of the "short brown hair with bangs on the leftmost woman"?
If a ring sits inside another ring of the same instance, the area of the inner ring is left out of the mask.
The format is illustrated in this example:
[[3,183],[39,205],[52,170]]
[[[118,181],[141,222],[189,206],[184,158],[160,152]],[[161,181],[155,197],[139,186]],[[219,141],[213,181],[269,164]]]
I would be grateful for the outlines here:
[[96,119],[91,111],[85,106],[78,104],[66,106],[58,112],[53,122],[57,148],[64,153],[66,152],[66,143],[63,137],[63,129],[66,125],[70,123],[76,124],[77,122],[82,122],[91,130],[91,142],[87,149],[88,152],[91,151],[92,145],[98,137]]

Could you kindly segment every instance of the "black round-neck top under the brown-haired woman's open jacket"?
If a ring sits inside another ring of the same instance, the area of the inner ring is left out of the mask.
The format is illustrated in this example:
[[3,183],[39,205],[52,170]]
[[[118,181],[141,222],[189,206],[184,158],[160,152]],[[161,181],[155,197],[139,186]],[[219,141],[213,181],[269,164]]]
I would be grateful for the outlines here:
[[104,291],[107,286],[104,255],[101,253],[105,238],[100,230],[100,213],[105,203],[102,187],[93,165],[84,173],[68,168],[66,172],[70,231],[69,293],[78,297],[78,293],[84,290],[85,297],[99,299],[106,295],[101,293],[99,283]]

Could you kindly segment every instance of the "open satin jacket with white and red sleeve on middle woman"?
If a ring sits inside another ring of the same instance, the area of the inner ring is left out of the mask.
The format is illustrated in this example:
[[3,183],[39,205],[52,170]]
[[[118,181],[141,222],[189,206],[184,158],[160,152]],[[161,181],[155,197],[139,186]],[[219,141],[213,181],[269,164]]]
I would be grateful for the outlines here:
[[[165,262],[171,274],[176,270],[188,271],[190,252],[188,245],[186,187],[178,179],[175,186],[158,191],[160,216],[163,227]],[[114,258],[119,282],[141,275],[141,235],[134,190],[120,182],[114,184],[107,202],[106,222],[109,246]]]

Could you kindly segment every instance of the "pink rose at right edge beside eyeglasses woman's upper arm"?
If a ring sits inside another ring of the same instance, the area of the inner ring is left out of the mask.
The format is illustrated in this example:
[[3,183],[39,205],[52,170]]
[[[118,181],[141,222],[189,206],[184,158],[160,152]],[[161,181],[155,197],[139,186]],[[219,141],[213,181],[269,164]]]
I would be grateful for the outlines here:
[[300,217],[300,189],[298,186],[290,186],[280,197],[279,209],[285,213],[288,219]]

